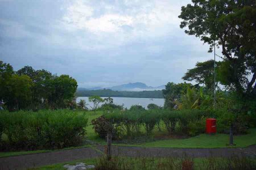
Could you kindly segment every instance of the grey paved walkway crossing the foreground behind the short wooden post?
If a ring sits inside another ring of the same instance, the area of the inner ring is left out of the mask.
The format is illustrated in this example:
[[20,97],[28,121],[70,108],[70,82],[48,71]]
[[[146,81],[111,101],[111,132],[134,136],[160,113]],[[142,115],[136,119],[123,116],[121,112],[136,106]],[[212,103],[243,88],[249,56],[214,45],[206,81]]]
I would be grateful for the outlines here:
[[[77,148],[72,150],[0,158],[0,169],[27,169],[42,165],[64,163],[77,159],[96,158],[102,155],[102,152],[104,152],[104,146],[97,146],[96,148]],[[113,155],[137,157],[187,155],[192,156],[193,158],[209,156],[229,157],[232,155],[256,156],[256,145],[247,148],[143,148],[114,146]]]

